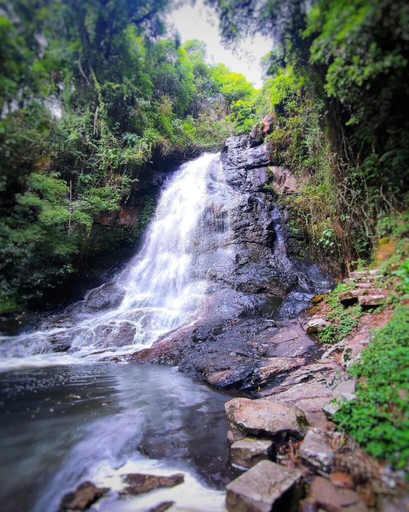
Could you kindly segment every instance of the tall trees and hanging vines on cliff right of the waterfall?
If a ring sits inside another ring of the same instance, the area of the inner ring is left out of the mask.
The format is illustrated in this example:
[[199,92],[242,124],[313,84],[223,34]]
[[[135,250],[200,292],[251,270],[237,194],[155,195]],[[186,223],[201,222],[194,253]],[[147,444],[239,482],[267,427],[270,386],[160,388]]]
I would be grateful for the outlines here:
[[406,3],[209,3],[226,42],[252,33],[275,40],[264,58],[263,97],[275,118],[268,140],[303,183],[288,202],[315,256],[338,268],[368,258],[388,218],[407,208]]

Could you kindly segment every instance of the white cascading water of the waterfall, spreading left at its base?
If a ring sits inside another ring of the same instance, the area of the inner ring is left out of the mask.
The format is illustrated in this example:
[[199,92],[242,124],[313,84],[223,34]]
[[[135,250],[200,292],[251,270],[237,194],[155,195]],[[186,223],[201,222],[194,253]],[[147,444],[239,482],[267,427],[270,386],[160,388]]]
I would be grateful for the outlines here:
[[[200,260],[203,216],[220,186],[223,176],[216,155],[205,154],[181,166],[165,186],[145,242],[125,270],[41,329],[3,337],[0,371],[121,357],[196,321],[209,268],[202,268]],[[95,306],[116,296],[119,300],[110,306]],[[57,351],[61,344],[65,353]]]

